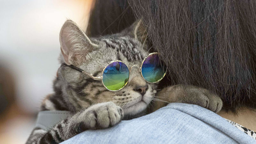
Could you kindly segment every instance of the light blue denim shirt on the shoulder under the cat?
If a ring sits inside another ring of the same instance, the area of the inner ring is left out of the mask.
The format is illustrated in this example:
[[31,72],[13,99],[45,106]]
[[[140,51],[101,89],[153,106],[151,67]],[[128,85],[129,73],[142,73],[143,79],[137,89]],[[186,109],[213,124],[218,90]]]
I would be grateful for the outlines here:
[[256,144],[256,140],[208,109],[170,103],[149,115],[121,121],[108,129],[85,131],[62,143]]

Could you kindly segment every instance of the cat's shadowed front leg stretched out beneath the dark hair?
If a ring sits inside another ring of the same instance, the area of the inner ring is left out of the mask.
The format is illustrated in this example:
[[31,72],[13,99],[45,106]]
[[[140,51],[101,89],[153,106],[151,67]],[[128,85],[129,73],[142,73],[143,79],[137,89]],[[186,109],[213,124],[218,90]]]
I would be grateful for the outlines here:
[[[215,113],[219,112],[222,108],[222,100],[218,95],[207,89],[192,85],[168,86],[158,92],[156,94],[156,98],[165,100],[167,102],[196,104]],[[154,104],[154,109],[151,111],[155,111],[166,104],[167,103],[165,102],[156,101]]]

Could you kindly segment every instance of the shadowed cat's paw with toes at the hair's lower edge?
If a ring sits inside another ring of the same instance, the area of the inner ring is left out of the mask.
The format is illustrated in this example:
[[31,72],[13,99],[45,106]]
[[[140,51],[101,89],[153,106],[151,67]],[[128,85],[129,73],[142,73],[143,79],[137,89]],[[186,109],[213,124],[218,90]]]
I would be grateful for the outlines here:
[[191,103],[207,108],[218,113],[222,108],[222,100],[211,91],[203,88],[193,88],[189,90]]

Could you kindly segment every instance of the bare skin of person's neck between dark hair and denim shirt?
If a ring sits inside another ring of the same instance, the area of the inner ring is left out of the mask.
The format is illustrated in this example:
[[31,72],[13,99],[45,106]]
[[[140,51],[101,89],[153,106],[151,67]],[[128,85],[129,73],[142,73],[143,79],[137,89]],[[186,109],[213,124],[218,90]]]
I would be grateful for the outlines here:
[[222,109],[218,113],[218,115],[256,132],[256,123],[255,123],[256,110],[255,109],[241,108],[237,111],[237,114],[233,114],[231,112],[227,113],[225,109]]

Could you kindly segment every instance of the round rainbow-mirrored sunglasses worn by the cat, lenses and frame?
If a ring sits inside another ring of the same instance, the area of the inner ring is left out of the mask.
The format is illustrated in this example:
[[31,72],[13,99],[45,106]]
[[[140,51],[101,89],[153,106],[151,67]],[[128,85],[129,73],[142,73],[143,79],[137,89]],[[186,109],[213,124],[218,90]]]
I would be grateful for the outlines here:
[[131,70],[133,67],[140,68],[140,74],[148,83],[156,83],[161,81],[166,74],[166,66],[159,60],[157,52],[148,54],[142,61],[141,66],[133,65],[130,69],[121,60],[109,62],[103,68],[101,76],[92,76],[84,70],[73,65],[67,65],[76,69],[94,80],[101,80],[102,84],[109,91],[119,91],[123,89],[129,81]]

